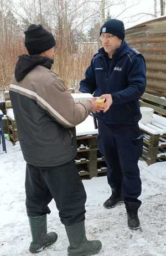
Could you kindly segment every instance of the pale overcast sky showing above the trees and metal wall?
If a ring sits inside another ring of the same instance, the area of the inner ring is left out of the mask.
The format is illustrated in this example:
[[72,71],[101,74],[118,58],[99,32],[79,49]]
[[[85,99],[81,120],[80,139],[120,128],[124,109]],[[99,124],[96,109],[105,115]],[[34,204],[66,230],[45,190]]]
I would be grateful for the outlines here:
[[[15,2],[15,7],[19,10],[20,6],[18,5],[19,0],[13,0]],[[81,0],[70,0],[70,3],[75,3]],[[83,1],[83,0],[82,0]],[[110,15],[112,18],[121,19],[125,23],[125,28],[132,27],[133,25],[142,23],[154,17],[148,14],[154,14],[154,0],[126,0],[126,7],[121,5],[114,5],[110,8],[107,8],[108,5],[112,3],[117,3],[118,0],[105,0],[106,9],[105,16],[107,16],[107,11],[109,9]],[[100,9],[101,0],[89,0],[87,10],[89,14],[95,13],[96,9]],[[97,8],[96,8],[97,7]],[[22,12],[19,10],[19,12]],[[160,16],[160,0],[157,0],[157,12],[158,17]],[[82,15],[81,15],[82,14]],[[139,14],[139,15],[137,15]],[[23,15],[24,16],[24,15]],[[80,13],[80,16],[76,19],[76,24],[80,23],[82,20],[83,13]],[[92,17],[92,16],[91,16]],[[92,17],[93,18],[93,17]],[[94,21],[89,21],[85,24],[84,32],[86,33],[89,28],[94,25]],[[74,24],[74,25],[76,25]]]

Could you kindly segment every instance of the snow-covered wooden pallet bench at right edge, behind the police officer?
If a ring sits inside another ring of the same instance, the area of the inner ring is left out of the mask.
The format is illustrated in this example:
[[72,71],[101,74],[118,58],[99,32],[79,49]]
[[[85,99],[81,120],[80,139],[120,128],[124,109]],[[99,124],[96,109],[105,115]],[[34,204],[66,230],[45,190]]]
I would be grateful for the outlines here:
[[144,134],[142,157],[151,165],[166,160],[166,99],[144,93],[140,105],[154,109],[152,124],[139,122]]

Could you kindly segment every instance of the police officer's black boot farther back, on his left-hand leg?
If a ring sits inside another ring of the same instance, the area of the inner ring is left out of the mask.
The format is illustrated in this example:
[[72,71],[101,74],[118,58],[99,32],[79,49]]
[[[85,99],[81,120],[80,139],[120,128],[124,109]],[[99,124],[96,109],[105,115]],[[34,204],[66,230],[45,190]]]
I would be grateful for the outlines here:
[[123,202],[123,196],[120,188],[111,187],[112,194],[111,197],[106,200],[103,206],[107,209],[111,209],[116,206],[118,203]]

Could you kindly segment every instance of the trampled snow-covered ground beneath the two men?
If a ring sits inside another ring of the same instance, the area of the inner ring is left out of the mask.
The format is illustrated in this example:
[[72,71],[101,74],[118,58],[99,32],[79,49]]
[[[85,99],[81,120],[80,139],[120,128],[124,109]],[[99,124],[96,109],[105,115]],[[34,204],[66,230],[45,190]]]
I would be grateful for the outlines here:
[[[141,230],[127,227],[125,206],[104,209],[110,196],[106,177],[84,180],[87,192],[86,229],[89,239],[100,239],[103,247],[98,256],[165,256],[166,255],[166,162],[147,166],[140,161],[142,207]],[[25,212],[25,162],[19,142],[7,141],[7,154],[0,145],[0,255],[30,256],[31,240]],[[40,256],[66,256],[68,239],[60,223],[55,203],[50,203],[48,231],[58,233],[58,241],[39,253]],[[79,256],[79,255],[78,255]]]

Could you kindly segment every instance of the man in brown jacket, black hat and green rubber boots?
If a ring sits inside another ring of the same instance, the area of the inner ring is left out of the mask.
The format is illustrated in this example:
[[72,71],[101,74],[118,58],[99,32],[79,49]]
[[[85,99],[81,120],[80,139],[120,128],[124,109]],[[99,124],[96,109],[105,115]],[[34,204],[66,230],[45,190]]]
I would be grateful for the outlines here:
[[28,55],[19,57],[9,89],[20,147],[27,162],[26,207],[32,233],[29,250],[38,253],[57,239],[47,233],[48,204],[54,198],[70,246],[68,255],[86,256],[101,249],[85,234],[86,192],[75,167],[75,126],[91,111],[95,100],[75,104],[63,80],[50,71],[55,39],[42,25],[25,32]]

